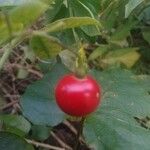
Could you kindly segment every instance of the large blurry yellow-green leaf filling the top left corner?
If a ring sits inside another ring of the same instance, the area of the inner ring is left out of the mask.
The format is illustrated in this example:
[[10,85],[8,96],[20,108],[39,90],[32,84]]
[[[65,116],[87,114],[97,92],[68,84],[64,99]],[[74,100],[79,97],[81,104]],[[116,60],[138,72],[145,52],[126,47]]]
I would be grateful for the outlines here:
[[13,7],[6,14],[7,21],[6,16],[0,13],[0,44],[18,36],[25,28],[31,26],[47,9],[47,4],[37,0],[27,1]]

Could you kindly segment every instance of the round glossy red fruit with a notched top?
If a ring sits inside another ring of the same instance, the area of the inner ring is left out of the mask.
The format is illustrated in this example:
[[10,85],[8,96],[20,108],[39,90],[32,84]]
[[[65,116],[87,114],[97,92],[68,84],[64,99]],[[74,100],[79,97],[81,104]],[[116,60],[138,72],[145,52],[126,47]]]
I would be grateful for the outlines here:
[[55,98],[63,112],[83,117],[96,110],[100,103],[101,87],[91,76],[82,79],[65,75],[55,88]]

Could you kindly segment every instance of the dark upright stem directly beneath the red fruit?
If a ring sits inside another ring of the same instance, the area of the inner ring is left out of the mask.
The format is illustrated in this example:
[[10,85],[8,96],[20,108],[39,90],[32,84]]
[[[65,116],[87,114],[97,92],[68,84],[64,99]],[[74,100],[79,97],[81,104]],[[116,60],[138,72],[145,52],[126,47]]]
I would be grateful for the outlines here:
[[74,150],[79,150],[80,137],[82,136],[82,133],[83,133],[83,127],[84,127],[85,118],[86,117],[82,117],[80,122],[79,122],[79,127],[77,128],[76,144],[75,144]]

